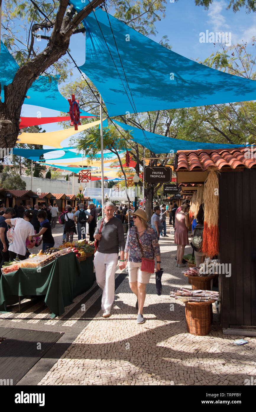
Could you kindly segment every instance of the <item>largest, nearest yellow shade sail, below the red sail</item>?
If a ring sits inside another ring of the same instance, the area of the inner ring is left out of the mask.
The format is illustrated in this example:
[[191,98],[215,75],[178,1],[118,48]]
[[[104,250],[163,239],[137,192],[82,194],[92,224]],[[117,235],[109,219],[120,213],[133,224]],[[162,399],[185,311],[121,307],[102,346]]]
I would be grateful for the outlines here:
[[28,143],[33,145],[43,144],[46,146],[52,146],[61,149],[62,147],[60,145],[60,142],[62,142],[62,140],[86,129],[90,129],[90,127],[97,126],[97,124],[99,123],[100,120],[82,124],[81,126],[78,126],[78,130],[75,130],[74,127],[70,127],[69,129],[48,131],[45,133],[21,133],[18,136],[17,143]]

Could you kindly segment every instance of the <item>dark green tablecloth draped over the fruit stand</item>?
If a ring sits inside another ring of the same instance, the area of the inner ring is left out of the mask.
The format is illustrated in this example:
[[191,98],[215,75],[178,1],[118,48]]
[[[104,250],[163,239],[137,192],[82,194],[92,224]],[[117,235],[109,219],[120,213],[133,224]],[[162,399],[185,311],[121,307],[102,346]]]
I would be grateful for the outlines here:
[[46,295],[45,303],[53,312],[51,316],[59,316],[65,306],[88,290],[94,281],[93,257],[79,263],[74,253],[60,256],[42,267],[41,272],[20,268],[1,276],[0,311],[7,311],[8,304],[18,302],[18,296]]

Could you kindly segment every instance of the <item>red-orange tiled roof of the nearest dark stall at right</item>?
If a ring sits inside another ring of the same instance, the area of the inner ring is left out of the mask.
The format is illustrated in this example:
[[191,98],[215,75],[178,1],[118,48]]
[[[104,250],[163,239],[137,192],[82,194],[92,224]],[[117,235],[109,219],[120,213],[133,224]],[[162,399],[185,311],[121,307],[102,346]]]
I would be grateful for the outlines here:
[[[217,149],[217,150],[178,150],[178,162],[175,171],[182,170],[206,170],[210,166],[217,169],[237,167],[256,167],[256,147],[253,153],[248,155],[248,149],[251,147],[236,147],[234,149]],[[247,158],[249,157],[249,159]]]

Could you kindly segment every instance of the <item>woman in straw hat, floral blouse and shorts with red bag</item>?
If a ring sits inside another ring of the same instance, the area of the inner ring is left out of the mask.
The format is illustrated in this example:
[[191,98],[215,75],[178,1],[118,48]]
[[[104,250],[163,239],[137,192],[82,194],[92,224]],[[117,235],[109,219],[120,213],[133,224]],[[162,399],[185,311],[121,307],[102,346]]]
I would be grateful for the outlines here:
[[133,213],[133,219],[134,226],[128,231],[125,246],[125,265],[128,261],[129,285],[137,297],[135,306],[138,309],[137,323],[141,324],[144,323],[142,311],[146,297],[146,286],[151,275],[151,273],[141,271],[141,248],[145,258],[153,259],[154,256],[156,257],[156,270],[160,270],[161,261],[157,234],[154,229],[148,227],[146,213],[138,209]]

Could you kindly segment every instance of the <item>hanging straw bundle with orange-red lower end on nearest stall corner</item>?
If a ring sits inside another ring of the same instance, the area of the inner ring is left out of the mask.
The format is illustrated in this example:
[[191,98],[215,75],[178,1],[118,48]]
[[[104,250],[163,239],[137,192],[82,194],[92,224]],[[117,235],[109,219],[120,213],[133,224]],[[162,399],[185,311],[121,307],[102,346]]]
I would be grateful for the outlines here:
[[219,252],[219,181],[216,172],[216,168],[210,170],[203,191],[204,225],[201,251],[210,257]]

